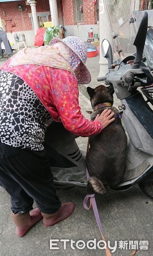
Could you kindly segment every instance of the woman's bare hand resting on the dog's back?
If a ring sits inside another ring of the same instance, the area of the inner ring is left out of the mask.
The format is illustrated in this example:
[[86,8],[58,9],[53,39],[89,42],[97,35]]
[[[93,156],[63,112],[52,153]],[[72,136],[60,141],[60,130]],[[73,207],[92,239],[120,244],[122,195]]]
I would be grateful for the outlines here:
[[115,118],[113,118],[114,113],[111,109],[104,109],[104,111],[99,115],[97,114],[95,120],[99,121],[101,123],[101,126],[103,129],[109,125],[109,123],[112,123]]

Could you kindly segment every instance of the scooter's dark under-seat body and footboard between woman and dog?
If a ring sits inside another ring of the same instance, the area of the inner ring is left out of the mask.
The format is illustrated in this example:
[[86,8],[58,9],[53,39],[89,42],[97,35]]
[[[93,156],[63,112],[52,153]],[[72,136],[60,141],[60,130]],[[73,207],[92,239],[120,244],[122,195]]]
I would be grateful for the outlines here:
[[72,183],[84,187],[86,179],[85,152],[80,151],[75,135],[60,122],[53,122],[45,134],[45,149],[56,183]]

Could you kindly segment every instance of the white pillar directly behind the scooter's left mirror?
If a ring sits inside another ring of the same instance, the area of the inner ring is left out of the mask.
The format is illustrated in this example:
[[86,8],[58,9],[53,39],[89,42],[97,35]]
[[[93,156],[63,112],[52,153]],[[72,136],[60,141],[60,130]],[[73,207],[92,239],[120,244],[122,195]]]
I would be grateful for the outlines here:
[[100,71],[99,77],[105,76],[108,73],[108,61],[105,59],[101,54],[101,43],[103,39],[108,39],[109,42],[112,44],[112,32],[109,27],[109,20],[107,18],[107,13],[104,6],[104,0],[99,0],[99,31],[100,31]]

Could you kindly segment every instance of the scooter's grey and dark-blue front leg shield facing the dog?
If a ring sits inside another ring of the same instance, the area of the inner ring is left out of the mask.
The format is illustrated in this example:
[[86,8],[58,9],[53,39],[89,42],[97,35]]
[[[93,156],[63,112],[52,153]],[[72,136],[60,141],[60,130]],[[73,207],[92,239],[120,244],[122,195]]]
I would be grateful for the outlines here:
[[117,190],[132,187],[153,171],[152,109],[140,92],[121,100],[121,105],[124,107],[122,122],[128,136],[128,148],[124,179]]

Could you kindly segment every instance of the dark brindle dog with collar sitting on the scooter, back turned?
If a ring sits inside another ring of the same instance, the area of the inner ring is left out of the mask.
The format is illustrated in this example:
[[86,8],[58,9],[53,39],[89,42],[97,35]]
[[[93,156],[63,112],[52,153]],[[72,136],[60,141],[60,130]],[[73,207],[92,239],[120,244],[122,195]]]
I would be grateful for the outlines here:
[[100,134],[90,137],[90,148],[86,156],[86,165],[90,173],[88,192],[93,190],[104,194],[121,183],[126,166],[127,137],[121,123],[119,112],[113,105],[113,86],[99,85],[95,89],[87,87],[94,112],[91,120],[104,109],[114,112],[115,120]]

